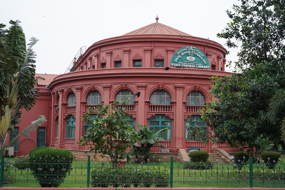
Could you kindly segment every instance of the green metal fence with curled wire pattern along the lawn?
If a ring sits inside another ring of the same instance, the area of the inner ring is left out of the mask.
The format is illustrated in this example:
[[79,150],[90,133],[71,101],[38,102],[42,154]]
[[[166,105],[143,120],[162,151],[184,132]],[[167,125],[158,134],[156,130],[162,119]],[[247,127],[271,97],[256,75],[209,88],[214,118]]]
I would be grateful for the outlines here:
[[[98,161],[73,160],[72,169],[65,173],[66,177],[60,179],[60,187],[74,184],[72,187],[185,187],[197,185],[235,185],[235,187],[284,187],[285,161],[260,161],[249,163],[234,163],[232,160],[220,160],[208,164],[179,162],[179,159],[153,157],[147,164],[140,160],[128,163],[121,161],[112,166],[105,158]],[[61,163],[52,163],[49,168],[33,166],[25,162],[22,157],[4,158],[1,156],[0,186],[7,184],[21,187],[22,183],[38,184],[38,177],[33,175],[32,169],[40,171],[43,181],[57,178],[56,169]],[[64,166],[60,166],[64,171]],[[48,173],[53,173],[49,177]]]

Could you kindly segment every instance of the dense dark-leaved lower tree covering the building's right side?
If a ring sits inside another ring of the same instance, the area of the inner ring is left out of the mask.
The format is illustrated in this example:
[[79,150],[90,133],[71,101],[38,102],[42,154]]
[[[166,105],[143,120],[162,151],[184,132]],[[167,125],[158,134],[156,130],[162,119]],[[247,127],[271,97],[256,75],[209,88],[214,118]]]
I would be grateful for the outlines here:
[[[274,72],[278,68],[280,71]],[[284,87],[282,68],[285,68],[284,63],[259,64],[230,77],[211,78],[210,93],[217,100],[207,103],[202,114],[206,125],[214,132],[211,139],[214,143],[249,148],[251,156],[257,148],[254,142],[260,137],[275,145],[281,143],[280,127],[270,121],[267,109],[272,95]]]

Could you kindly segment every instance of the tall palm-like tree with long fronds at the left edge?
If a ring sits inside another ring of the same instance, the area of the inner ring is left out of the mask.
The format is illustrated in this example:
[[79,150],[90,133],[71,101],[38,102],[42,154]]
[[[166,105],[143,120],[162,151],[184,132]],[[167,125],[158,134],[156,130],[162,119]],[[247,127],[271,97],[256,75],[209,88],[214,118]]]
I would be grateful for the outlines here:
[[[30,110],[38,96],[34,77],[36,55],[32,50],[38,40],[31,38],[26,49],[26,38],[19,21],[9,23],[8,29],[5,24],[0,24],[0,152],[12,143],[4,147],[7,134],[19,123],[22,110]],[[29,136],[45,121],[41,115],[20,134]]]

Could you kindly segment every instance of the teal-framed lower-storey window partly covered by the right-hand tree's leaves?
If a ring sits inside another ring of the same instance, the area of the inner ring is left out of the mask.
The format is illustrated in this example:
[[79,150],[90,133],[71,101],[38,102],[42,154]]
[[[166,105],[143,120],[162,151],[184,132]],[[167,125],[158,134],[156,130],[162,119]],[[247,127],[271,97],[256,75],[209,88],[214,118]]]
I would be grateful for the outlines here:
[[199,133],[202,131],[207,132],[207,127],[200,115],[192,115],[185,120],[185,140],[201,140],[203,136]]

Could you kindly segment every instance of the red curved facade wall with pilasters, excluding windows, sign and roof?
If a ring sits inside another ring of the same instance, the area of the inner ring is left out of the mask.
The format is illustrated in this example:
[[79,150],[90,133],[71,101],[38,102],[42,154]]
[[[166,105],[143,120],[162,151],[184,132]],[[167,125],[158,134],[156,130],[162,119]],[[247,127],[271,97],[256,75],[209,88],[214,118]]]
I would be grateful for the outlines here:
[[[170,67],[170,60],[177,50],[185,46],[199,48],[208,58],[211,69]],[[134,105],[126,107],[127,113],[135,123],[149,125],[150,119],[163,115],[171,120],[171,139],[160,142],[170,152],[178,148],[201,148],[211,152],[211,142],[204,144],[198,140],[185,140],[185,120],[191,115],[199,115],[198,109],[205,105],[187,105],[186,97],[192,91],[198,91],[205,97],[205,102],[213,101],[209,97],[210,77],[213,75],[230,75],[224,72],[226,50],[220,44],[209,43],[207,39],[193,36],[171,35],[136,35],[119,36],[96,42],[90,46],[79,60],[74,62],[72,72],[60,75],[49,85],[52,89],[52,123],[51,147],[84,150],[77,144],[83,135],[87,95],[98,91],[102,102],[115,101],[121,90],[129,90],[135,97]],[[134,67],[133,61],[141,60],[141,67]],[[155,67],[155,60],[163,60],[163,67]],[[116,62],[121,67],[116,68]],[[102,67],[105,64],[105,68]],[[156,91],[166,91],[170,97],[169,105],[150,104],[150,96]],[[76,95],[76,105],[68,106],[70,93]],[[59,104],[58,104],[59,102]],[[96,106],[96,105],[94,105]],[[66,119],[75,118],[75,136],[66,138]],[[56,125],[58,123],[58,135]],[[211,132],[211,131],[209,131]],[[229,149],[229,147],[223,147]],[[159,147],[152,149],[160,151]],[[232,151],[232,150],[231,150]]]

